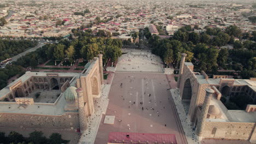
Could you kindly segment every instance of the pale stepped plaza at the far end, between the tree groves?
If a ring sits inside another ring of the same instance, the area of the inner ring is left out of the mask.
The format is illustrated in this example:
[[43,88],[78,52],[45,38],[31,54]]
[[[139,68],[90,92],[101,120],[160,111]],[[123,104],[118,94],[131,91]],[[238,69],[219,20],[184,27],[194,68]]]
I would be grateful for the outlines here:
[[147,50],[124,49],[127,52],[118,59],[115,71],[163,73],[161,58]]

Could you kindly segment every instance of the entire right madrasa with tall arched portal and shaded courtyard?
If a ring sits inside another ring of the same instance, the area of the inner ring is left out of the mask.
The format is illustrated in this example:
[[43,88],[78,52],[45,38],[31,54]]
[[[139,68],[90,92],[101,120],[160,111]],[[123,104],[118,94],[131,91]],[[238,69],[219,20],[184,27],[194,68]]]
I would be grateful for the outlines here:
[[[213,75],[210,79],[204,71],[194,72],[194,65],[185,62],[185,56],[182,53],[177,87],[197,136],[256,142],[256,78]],[[241,100],[237,101],[238,98]],[[240,109],[228,105],[231,101]]]

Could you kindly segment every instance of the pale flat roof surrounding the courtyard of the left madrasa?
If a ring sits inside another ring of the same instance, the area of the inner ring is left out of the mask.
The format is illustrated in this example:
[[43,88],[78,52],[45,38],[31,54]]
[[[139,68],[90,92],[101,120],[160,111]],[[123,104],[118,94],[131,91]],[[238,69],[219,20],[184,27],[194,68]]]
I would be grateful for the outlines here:
[[[19,79],[10,83],[7,87],[0,91],[0,94],[4,92],[10,92],[9,87],[14,85],[16,82],[21,80],[22,82],[29,79],[31,76],[46,76],[46,74],[59,74],[59,76],[73,76],[79,77],[80,73],[45,73],[45,72],[31,72],[27,71],[24,75],[19,77]],[[75,79],[70,82],[70,86],[75,86]],[[3,96],[3,95],[2,95]],[[16,102],[0,102],[0,113],[19,113],[19,114],[32,114],[32,115],[53,115],[61,116],[65,112],[78,112],[78,111],[66,111],[65,110],[66,99],[64,94],[61,93],[60,97],[56,100],[55,104],[50,103],[34,103],[32,105],[27,105],[25,108],[20,107],[21,105],[16,104]]]

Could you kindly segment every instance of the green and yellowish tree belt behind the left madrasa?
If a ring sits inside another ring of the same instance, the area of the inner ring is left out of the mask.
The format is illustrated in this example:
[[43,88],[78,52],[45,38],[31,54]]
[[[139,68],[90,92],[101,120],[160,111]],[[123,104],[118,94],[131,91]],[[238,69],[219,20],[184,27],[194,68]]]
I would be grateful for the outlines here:
[[121,40],[96,37],[92,35],[90,30],[79,31],[79,33],[83,36],[73,41],[63,39],[59,44],[46,44],[35,52],[27,53],[26,56],[19,58],[14,64],[25,68],[34,68],[38,63],[44,63],[49,59],[59,61],[68,59],[71,63],[79,58],[90,61],[97,57],[99,53],[102,53],[104,62],[107,62],[108,59],[114,62],[121,56],[121,47],[123,46]]

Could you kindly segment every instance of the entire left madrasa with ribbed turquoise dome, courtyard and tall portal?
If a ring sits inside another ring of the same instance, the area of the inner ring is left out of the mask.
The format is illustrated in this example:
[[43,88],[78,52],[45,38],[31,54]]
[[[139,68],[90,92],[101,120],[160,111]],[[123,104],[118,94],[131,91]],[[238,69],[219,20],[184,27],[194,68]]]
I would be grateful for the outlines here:
[[101,54],[82,73],[27,71],[0,91],[0,127],[84,131],[101,85]]

